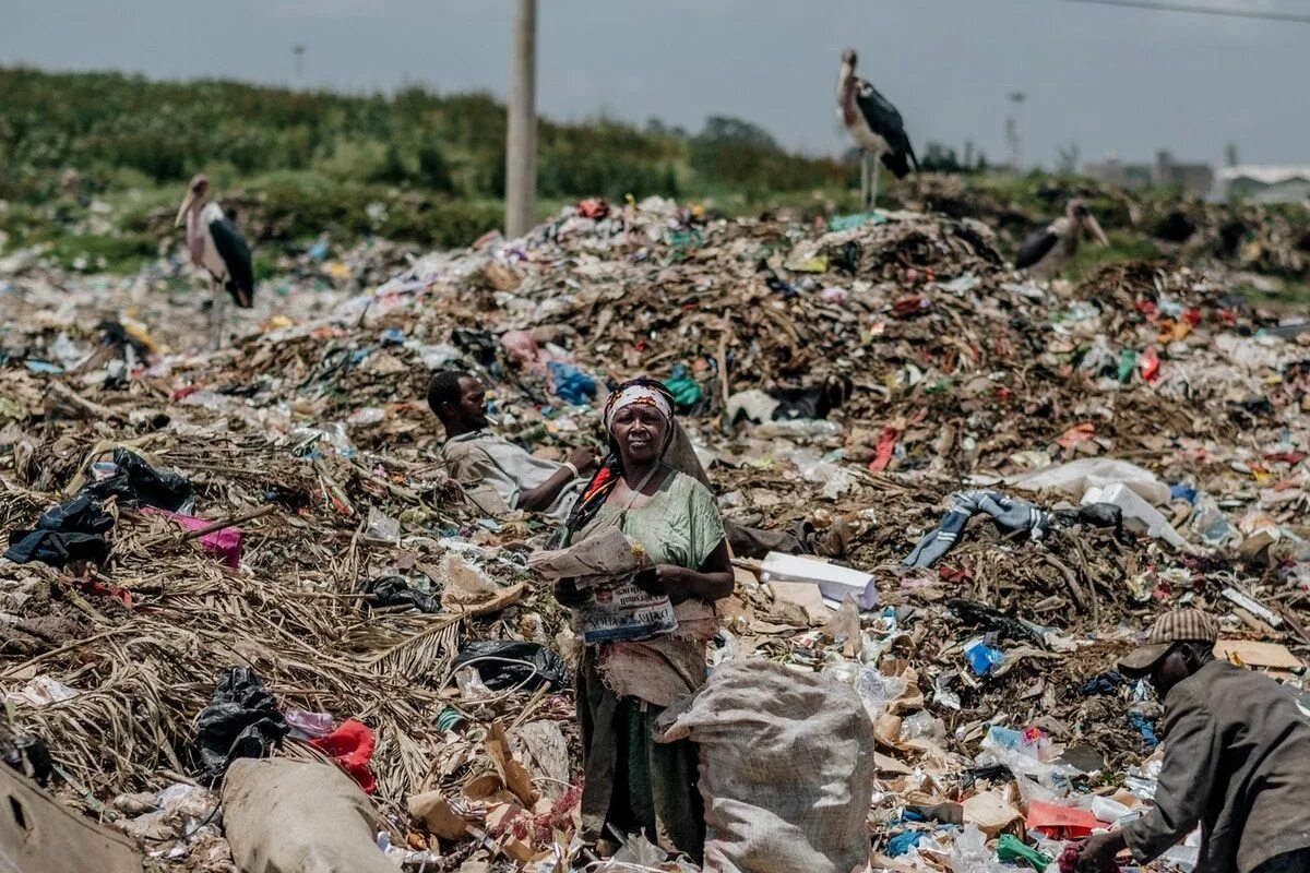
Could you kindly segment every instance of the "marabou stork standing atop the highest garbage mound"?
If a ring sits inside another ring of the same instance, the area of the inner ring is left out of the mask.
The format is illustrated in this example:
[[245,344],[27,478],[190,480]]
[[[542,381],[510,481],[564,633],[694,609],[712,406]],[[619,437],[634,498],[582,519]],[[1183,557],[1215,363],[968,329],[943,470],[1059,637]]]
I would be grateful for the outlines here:
[[878,161],[904,179],[918,158],[905,134],[905,123],[891,102],[878,89],[855,76],[855,51],[841,52],[841,75],[837,77],[837,114],[859,147],[859,202],[867,212],[878,200]]

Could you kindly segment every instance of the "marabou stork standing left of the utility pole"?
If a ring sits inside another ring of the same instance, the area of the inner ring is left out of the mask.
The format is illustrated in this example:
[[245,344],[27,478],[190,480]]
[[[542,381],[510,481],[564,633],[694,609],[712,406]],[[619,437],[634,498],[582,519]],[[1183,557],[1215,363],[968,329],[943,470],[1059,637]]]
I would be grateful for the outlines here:
[[186,247],[191,253],[191,263],[204,267],[212,276],[214,305],[210,309],[210,348],[223,344],[223,321],[227,314],[227,297],[241,309],[254,306],[254,268],[250,264],[250,246],[237,230],[237,225],[223,215],[223,208],[206,199],[210,181],[204,174],[191,179],[191,185],[177,211],[177,221],[182,224],[186,216]]

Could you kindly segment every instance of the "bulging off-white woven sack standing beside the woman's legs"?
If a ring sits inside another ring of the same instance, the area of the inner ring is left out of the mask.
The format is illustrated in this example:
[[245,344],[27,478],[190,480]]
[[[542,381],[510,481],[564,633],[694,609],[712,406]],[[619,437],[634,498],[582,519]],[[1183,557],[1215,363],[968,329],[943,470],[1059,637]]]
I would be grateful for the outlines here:
[[866,869],[874,733],[854,690],[732,658],[660,726],[701,747],[707,873]]

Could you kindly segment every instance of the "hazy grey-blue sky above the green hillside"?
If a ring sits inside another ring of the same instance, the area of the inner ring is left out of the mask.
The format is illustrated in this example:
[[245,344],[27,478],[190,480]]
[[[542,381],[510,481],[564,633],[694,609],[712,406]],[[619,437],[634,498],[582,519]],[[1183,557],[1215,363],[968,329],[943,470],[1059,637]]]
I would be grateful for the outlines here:
[[[1310,0],[1188,0],[1310,14]],[[510,0],[0,0],[0,64],[155,77],[504,96]],[[836,153],[838,55],[900,110],[916,147],[972,139],[1023,162],[1078,143],[1146,160],[1310,164],[1310,25],[1064,0],[541,0],[538,105],[689,130],[736,115]],[[307,47],[296,79],[291,47]]]

